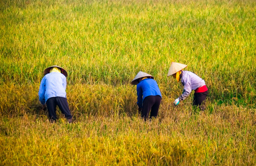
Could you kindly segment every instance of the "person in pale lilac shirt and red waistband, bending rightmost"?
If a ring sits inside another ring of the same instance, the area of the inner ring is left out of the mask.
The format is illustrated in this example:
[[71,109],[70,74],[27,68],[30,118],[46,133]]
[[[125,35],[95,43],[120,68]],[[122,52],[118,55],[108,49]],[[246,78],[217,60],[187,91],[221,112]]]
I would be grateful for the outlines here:
[[183,93],[174,100],[174,105],[178,105],[180,101],[183,101],[189,96],[192,90],[195,90],[193,105],[199,106],[203,111],[208,89],[203,79],[190,71],[183,71],[186,66],[187,65],[172,62],[167,74],[167,77],[173,76],[177,82],[181,80],[184,86]]

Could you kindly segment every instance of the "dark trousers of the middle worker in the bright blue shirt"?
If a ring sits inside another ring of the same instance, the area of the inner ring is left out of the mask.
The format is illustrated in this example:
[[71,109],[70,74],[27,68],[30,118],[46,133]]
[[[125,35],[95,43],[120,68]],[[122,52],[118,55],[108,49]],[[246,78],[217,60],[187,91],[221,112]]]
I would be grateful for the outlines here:
[[143,100],[141,117],[146,120],[149,117],[150,110],[150,119],[152,117],[156,117],[158,115],[158,109],[161,104],[161,100],[161,96],[146,96],[146,98]]

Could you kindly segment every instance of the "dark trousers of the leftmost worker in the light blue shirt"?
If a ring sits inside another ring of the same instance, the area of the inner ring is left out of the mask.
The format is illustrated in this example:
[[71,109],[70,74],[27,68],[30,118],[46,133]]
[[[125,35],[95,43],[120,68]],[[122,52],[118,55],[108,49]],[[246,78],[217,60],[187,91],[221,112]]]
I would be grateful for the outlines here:
[[67,98],[63,97],[53,97],[49,98],[46,101],[47,109],[49,112],[49,118],[50,120],[56,120],[58,119],[56,116],[56,106],[58,105],[59,109],[61,110],[62,114],[67,119],[72,119],[72,115],[70,113],[70,108],[68,107],[68,101]]

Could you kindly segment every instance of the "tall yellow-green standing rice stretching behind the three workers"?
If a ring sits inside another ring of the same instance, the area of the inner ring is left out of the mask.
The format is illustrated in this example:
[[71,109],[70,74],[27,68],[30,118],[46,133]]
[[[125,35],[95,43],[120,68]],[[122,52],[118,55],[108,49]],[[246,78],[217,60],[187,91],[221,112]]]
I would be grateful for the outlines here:
[[141,70],[171,86],[176,61],[213,99],[255,101],[253,1],[17,1],[1,11],[1,84],[40,82],[57,64],[72,84],[128,84]]

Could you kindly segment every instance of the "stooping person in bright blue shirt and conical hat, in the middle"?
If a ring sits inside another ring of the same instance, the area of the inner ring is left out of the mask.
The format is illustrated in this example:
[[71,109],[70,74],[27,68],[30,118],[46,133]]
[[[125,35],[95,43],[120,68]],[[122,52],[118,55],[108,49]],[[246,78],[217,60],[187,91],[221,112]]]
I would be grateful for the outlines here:
[[153,76],[140,71],[131,81],[131,84],[137,84],[137,104],[141,117],[146,120],[150,110],[150,119],[156,117],[162,95]]

